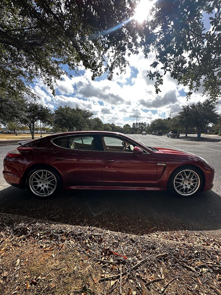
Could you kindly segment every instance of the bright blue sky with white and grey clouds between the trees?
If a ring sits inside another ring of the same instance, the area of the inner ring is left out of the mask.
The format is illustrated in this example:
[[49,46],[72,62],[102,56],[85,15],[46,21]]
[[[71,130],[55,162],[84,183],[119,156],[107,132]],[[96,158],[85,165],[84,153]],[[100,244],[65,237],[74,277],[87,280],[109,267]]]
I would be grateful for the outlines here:
[[[209,18],[204,15],[204,25],[210,29]],[[33,91],[40,96],[41,101],[52,109],[58,106],[76,105],[90,109],[94,117],[99,117],[103,123],[114,123],[123,126],[132,125],[133,122],[150,123],[153,119],[167,118],[177,114],[182,105],[204,101],[207,97],[201,96],[202,88],[187,101],[188,88],[177,84],[177,81],[166,73],[164,83],[160,86],[161,93],[155,93],[154,81],[147,78],[147,71],[153,62],[154,55],[144,58],[142,51],[138,55],[128,58],[129,66],[126,73],[117,75],[114,72],[112,81],[107,80],[106,74],[91,80],[90,70],[80,69],[79,74],[72,78],[63,76],[63,81],[55,85],[56,96],[41,80],[32,84]],[[69,72],[67,65],[64,70]],[[221,103],[217,110],[221,113]]]

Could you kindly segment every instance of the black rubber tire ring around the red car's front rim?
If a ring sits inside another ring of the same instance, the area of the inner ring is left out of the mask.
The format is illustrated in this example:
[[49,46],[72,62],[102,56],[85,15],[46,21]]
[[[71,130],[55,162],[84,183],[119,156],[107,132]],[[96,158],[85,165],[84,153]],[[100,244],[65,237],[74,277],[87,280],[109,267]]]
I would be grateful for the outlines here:
[[[189,194],[189,195],[182,195],[182,194],[179,194],[179,193],[176,191],[175,187],[174,187],[174,178],[175,178],[175,177],[177,176],[177,174],[180,173],[181,171],[183,171],[183,170],[188,170],[188,169],[191,170],[191,171],[194,171],[194,172],[196,172],[196,173],[198,174],[199,179],[200,179],[200,184],[199,184],[199,187],[197,188],[197,190],[196,190],[194,193]],[[183,166],[181,166],[181,167],[178,167],[177,169],[175,169],[175,170],[171,173],[171,175],[170,175],[170,177],[169,177],[169,181],[168,181],[168,183],[167,183],[167,191],[170,191],[174,196],[177,196],[177,197],[179,197],[179,198],[184,198],[184,197],[187,198],[187,197],[195,196],[195,194],[197,194],[197,193],[201,190],[203,184],[204,184],[204,180],[203,180],[203,177],[202,177],[202,172],[201,172],[197,167],[195,167],[195,166],[189,166],[189,165],[183,165]]]

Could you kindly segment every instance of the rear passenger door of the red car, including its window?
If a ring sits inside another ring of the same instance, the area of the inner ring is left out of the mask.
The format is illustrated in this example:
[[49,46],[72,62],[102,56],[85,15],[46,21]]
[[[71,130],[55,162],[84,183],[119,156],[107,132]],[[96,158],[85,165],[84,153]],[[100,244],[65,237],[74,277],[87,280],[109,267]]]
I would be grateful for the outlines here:
[[70,135],[52,140],[52,165],[61,171],[64,186],[101,184],[101,159],[96,134]]

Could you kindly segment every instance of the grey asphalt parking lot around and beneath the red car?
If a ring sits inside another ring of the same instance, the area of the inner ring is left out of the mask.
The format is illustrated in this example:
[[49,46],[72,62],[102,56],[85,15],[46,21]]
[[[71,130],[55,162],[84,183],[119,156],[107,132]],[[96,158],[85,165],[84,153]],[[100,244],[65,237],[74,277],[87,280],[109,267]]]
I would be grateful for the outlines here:
[[[49,200],[38,200],[27,190],[9,186],[0,173],[0,212],[136,235],[156,230],[221,230],[221,138],[130,136],[145,145],[203,157],[215,168],[214,188],[191,198],[158,191],[72,190]],[[16,147],[0,146],[1,171],[4,156]]]

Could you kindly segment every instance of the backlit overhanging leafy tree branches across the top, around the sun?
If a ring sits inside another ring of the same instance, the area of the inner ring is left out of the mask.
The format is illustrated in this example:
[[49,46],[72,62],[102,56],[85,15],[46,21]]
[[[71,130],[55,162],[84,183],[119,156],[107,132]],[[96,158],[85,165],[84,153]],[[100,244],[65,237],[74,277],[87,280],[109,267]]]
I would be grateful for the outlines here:
[[[156,1],[147,19],[134,18],[136,0],[2,0],[0,10],[0,88],[26,92],[25,85],[42,78],[53,91],[63,64],[103,71],[111,79],[122,72],[127,57],[142,50],[154,53],[150,79],[156,93],[169,72],[212,99],[220,96],[220,1]],[[204,13],[212,29],[204,28]],[[104,65],[104,67],[103,67]],[[104,68],[104,70],[103,70]]]

